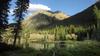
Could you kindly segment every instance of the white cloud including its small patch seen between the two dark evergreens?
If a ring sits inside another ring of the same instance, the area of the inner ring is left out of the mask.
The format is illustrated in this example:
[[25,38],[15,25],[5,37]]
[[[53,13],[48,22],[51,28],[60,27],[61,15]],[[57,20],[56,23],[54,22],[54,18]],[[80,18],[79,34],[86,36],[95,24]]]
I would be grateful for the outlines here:
[[[10,9],[10,13],[9,15],[13,15],[13,10],[14,9]],[[27,9],[28,10],[28,15],[31,15],[33,11],[36,11],[36,10],[51,10],[51,8],[49,8],[48,6],[46,5],[43,5],[43,4],[32,4],[32,3],[29,3],[29,8]]]

